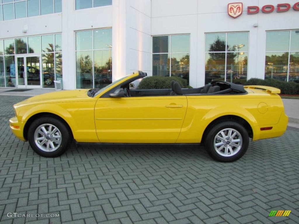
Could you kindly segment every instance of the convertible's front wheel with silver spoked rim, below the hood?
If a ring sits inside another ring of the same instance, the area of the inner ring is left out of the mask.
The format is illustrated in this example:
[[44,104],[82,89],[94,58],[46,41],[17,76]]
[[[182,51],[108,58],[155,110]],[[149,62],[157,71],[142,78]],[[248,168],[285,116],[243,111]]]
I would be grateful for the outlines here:
[[60,156],[71,144],[71,138],[68,127],[51,116],[36,119],[28,129],[31,148],[44,157]]

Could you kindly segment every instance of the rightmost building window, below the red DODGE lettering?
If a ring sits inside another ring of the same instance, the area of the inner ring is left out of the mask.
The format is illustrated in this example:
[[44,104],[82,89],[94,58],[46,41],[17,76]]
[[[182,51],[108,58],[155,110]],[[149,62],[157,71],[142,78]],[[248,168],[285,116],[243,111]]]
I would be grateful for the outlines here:
[[266,32],[265,79],[299,82],[299,30]]

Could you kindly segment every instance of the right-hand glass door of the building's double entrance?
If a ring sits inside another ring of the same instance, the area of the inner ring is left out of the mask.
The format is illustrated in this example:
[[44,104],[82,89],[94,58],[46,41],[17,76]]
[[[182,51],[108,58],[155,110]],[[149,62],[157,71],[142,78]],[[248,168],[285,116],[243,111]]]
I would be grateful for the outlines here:
[[41,88],[40,56],[25,56],[26,63],[26,87]]

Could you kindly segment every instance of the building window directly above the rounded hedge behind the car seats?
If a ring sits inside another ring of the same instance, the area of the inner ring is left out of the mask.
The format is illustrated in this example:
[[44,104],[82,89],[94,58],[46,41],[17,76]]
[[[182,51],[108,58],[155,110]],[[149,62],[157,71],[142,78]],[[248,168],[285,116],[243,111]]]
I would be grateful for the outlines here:
[[152,37],[152,75],[177,76],[189,83],[190,35]]

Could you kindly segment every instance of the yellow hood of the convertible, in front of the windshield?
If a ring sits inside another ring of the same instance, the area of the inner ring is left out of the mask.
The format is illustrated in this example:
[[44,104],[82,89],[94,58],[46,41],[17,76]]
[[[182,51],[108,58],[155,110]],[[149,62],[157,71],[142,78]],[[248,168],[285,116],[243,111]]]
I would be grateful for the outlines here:
[[86,101],[94,100],[94,98],[87,95],[89,89],[78,90],[60,90],[52,93],[44,93],[37,96],[25,99],[14,106],[21,107],[31,104],[44,104],[44,103],[57,103],[57,102],[74,102],[74,101]]

